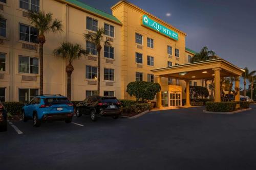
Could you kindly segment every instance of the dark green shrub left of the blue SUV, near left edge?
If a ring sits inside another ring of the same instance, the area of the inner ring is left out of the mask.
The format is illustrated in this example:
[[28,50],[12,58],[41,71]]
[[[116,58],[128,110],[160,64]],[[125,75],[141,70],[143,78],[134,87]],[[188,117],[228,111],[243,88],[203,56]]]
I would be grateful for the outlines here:
[[24,103],[22,102],[3,102],[7,112],[11,115],[20,115]]

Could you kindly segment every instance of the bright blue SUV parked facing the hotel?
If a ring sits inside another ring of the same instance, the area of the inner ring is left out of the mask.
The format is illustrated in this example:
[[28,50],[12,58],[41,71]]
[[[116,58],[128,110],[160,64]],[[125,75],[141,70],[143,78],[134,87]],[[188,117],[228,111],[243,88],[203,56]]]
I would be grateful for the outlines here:
[[71,123],[73,112],[73,104],[60,94],[38,95],[22,108],[23,121],[33,119],[35,127],[39,127],[41,122],[55,120],[65,120],[67,124]]

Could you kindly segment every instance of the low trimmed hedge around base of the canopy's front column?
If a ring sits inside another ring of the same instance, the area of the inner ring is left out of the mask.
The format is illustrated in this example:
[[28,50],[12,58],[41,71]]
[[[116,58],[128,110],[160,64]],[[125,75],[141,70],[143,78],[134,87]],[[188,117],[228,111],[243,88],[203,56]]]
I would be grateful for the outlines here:
[[236,102],[206,102],[206,111],[232,112],[236,109]]

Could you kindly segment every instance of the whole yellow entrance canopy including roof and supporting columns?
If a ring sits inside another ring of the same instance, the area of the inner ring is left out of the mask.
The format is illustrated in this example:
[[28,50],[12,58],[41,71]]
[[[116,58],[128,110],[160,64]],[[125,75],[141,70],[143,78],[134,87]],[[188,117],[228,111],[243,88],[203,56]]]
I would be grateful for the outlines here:
[[[176,65],[172,67],[158,68],[151,70],[154,76],[158,77],[158,83],[161,85],[161,77],[175,78],[186,81],[186,106],[190,106],[189,99],[189,81],[201,79],[214,79],[215,82],[215,102],[221,102],[221,77],[235,77],[235,89],[239,88],[239,77],[244,70],[223,60],[221,58],[207,60],[195,63]],[[157,106],[161,107],[161,95],[158,95]],[[239,90],[235,97],[239,101]]]

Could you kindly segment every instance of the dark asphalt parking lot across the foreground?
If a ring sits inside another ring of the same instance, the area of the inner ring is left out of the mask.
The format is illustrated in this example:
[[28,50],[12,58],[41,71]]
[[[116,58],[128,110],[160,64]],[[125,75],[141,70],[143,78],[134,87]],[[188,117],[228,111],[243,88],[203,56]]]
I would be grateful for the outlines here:
[[136,119],[32,120],[0,133],[0,169],[255,169],[256,105],[217,115],[203,107]]

